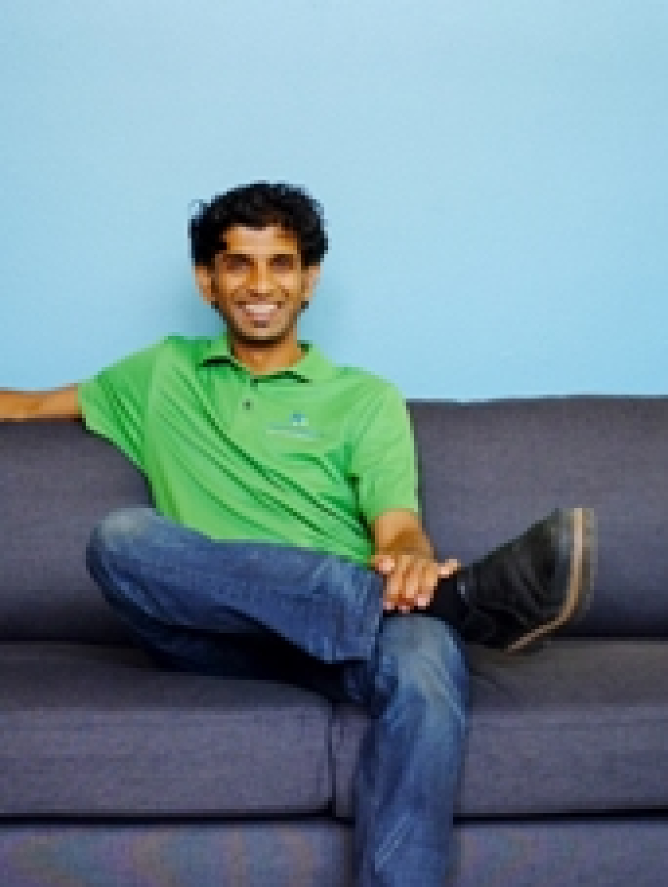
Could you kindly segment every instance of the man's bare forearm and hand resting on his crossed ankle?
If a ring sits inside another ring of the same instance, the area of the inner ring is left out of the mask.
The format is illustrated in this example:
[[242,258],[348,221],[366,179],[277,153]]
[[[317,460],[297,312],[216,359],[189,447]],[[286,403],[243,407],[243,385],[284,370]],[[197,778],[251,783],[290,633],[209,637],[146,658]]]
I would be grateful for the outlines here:
[[428,607],[439,579],[452,576],[460,561],[437,561],[422,529],[420,517],[411,511],[387,511],[373,523],[376,553],[373,569],[385,577],[383,608],[409,613]]

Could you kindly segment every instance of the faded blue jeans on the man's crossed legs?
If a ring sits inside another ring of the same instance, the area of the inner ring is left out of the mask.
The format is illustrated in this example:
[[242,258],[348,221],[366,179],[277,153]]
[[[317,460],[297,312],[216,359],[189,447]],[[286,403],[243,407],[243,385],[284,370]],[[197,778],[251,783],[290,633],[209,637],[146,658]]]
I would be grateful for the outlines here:
[[[382,579],[333,555],[216,542],[151,508],[93,531],[90,574],[171,667],[286,680],[372,715],[354,787],[359,887],[436,887],[452,865],[467,671],[429,616],[382,617]],[[334,666],[334,667],[333,667]]]

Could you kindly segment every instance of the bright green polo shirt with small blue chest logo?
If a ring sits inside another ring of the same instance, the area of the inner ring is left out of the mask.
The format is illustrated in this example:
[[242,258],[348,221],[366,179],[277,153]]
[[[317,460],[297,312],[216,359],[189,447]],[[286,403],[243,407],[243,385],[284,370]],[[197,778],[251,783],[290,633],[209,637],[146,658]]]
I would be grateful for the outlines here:
[[144,472],[161,514],[211,538],[365,563],[373,520],[418,510],[405,403],[372,373],[303,350],[258,376],[225,336],[169,337],[84,382],[83,418]]

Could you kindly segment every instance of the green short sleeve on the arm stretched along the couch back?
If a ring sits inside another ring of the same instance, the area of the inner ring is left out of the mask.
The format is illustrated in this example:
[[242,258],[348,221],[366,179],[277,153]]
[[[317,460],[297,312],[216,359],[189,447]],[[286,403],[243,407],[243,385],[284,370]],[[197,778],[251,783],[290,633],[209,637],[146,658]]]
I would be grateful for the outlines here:
[[146,407],[161,345],[138,351],[107,367],[79,387],[86,428],[114,443],[144,469]]

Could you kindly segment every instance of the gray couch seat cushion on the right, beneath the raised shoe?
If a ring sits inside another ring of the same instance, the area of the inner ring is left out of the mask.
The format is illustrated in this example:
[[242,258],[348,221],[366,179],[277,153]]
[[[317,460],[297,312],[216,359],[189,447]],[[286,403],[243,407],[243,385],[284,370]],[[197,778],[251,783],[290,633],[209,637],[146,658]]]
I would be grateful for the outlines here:
[[[523,817],[668,807],[668,645],[554,640],[510,657],[472,649],[458,815]],[[365,715],[334,711],[334,798],[352,815]]]

